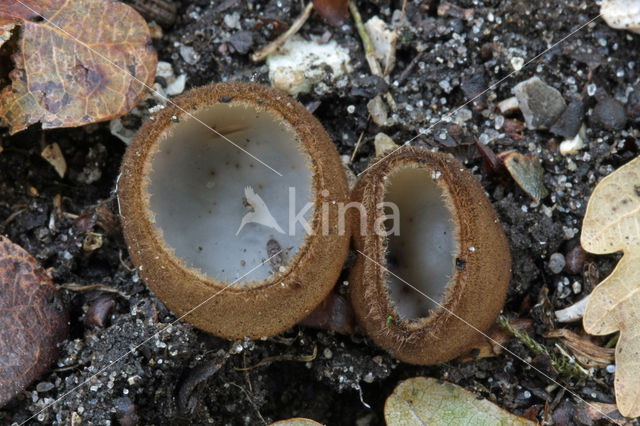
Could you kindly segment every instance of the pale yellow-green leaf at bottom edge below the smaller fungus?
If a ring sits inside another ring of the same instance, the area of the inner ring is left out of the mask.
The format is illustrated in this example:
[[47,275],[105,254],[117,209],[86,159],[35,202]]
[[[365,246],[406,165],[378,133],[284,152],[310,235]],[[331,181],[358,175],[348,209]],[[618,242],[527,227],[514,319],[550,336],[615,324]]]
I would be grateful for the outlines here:
[[535,426],[452,383],[414,377],[400,383],[387,398],[388,426]]

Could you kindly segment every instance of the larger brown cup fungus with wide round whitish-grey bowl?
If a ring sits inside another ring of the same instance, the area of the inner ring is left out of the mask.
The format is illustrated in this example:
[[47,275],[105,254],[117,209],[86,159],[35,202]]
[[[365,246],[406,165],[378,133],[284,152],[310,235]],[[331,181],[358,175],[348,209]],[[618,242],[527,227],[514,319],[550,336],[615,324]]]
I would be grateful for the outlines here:
[[138,132],[118,185],[142,278],[175,314],[221,337],[294,325],[346,257],[338,153],[320,123],[274,89],[221,83],[175,99]]

